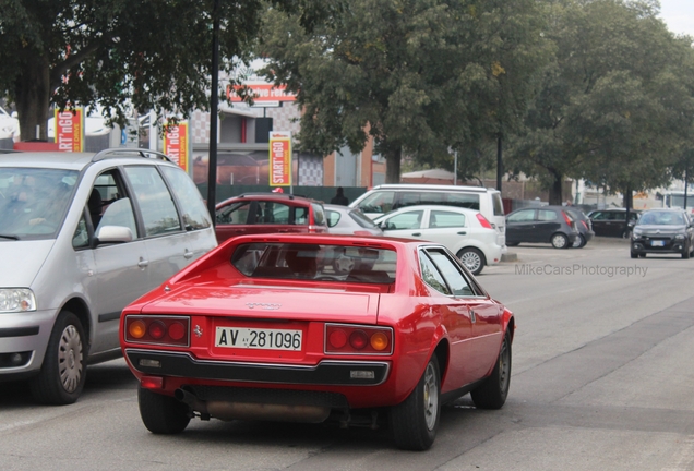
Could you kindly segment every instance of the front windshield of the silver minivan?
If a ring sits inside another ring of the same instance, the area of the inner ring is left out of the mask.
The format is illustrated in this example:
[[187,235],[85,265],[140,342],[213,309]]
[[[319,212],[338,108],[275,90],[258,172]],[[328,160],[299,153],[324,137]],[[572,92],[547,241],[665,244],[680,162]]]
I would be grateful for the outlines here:
[[55,238],[76,182],[74,170],[0,168],[0,237]]

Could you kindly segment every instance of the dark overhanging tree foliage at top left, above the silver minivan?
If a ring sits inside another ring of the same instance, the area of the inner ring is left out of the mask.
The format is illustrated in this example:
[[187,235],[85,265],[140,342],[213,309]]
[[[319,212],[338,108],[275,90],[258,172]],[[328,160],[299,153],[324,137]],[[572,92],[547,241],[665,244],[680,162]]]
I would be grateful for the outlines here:
[[[0,96],[16,105],[22,138],[46,137],[50,105],[129,107],[187,116],[207,109],[212,14],[218,4],[222,69],[248,57],[267,9],[261,0],[2,0]],[[300,22],[339,11],[335,0],[276,0]]]

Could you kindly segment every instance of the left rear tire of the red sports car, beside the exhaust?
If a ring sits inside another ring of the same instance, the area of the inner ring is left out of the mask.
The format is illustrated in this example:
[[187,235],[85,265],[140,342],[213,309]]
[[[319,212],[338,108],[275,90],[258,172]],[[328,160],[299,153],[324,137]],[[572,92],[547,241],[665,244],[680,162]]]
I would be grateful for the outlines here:
[[154,434],[181,433],[190,422],[190,409],[171,396],[165,396],[137,387],[140,416],[147,430]]

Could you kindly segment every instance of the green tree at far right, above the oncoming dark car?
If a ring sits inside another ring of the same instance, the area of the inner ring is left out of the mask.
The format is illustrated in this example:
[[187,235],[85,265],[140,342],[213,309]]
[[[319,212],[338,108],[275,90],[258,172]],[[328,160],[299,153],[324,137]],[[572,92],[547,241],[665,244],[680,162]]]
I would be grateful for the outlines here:
[[625,195],[663,184],[693,119],[691,47],[667,31],[655,1],[548,4],[555,58],[514,141],[514,171],[538,178],[551,204],[566,177]]

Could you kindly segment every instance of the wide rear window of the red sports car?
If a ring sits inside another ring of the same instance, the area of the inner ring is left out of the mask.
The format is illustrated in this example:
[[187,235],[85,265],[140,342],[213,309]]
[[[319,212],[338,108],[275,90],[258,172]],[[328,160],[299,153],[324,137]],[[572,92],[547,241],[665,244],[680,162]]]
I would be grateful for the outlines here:
[[239,245],[231,264],[251,278],[392,283],[396,253],[360,246],[258,242]]

